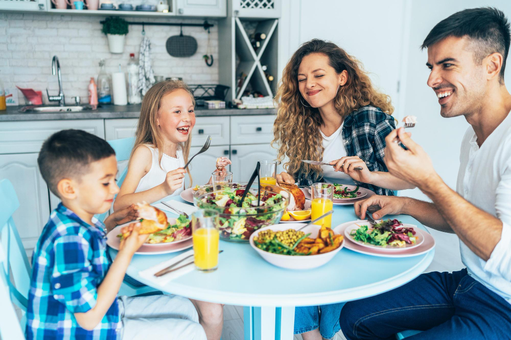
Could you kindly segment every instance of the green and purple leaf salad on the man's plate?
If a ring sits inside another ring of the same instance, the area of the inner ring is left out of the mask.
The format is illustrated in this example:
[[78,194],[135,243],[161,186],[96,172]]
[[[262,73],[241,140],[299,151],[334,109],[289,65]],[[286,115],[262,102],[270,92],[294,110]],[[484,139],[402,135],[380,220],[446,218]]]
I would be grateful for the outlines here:
[[362,225],[356,230],[352,230],[350,235],[363,243],[372,244],[380,247],[406,247],[406,244],[415,244],[417,237],[413,228],[403,226],[403,223],[397,219],[382,221],[375,224],[373,228]]

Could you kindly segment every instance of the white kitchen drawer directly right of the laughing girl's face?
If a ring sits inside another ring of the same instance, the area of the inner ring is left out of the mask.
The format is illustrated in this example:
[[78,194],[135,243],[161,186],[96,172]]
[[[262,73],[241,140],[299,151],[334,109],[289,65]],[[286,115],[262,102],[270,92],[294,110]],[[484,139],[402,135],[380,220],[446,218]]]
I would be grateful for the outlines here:
[[197,117],[192,146],[203,146],[207,135],[211,135],[211,145],[229,145],[229,117]]

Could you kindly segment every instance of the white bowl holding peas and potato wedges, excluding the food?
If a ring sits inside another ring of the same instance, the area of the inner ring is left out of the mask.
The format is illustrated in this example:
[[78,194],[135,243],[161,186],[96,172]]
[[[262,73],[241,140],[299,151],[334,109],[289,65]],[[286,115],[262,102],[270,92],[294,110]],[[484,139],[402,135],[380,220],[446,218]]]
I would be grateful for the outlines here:
[[[304,223],[286,223],[286,224],[274,224],[269,225],[267,227],[255,230],[250,235],[250,246],[261,255],[262,258],[264,258],[266,261],[271,263],[274,266],[287,268],[287,269],[313,269],[321,267],[322,265],[326,264],[328,261],[330,261],[332,258],[334,258],[335,254],[341,250],[342,247],[344,247],[344,240],[342,240],[342,243],[339,248],[332,250],[331,252],[324,253],[324,254],[317,254],[317,255],[281,255],[281,254],[274,254],[270,253],[268,251],[264,251],[262,249],[259,249],[254,244],[254,237],[257,237],[258,234],[267,229],[271,229],[273,231],[282,231],[282,230],[288,230],[288,229],[299,229],[304,226]],[[318,236],[319,232],[319,225],[311,225],[306,228],[304,228],[303,232],[311,233],[310,238],[315,239]]]

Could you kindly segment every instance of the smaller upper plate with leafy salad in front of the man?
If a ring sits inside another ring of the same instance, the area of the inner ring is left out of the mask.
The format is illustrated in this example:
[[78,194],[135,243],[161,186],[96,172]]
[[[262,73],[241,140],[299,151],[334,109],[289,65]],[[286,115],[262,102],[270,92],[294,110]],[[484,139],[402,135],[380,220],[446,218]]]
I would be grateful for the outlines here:
[[401,251],[419,247],[424,242],[416,226],[388,219],[377,224],[353,223],[344,229],[344,236],[363,247],[385,251]]

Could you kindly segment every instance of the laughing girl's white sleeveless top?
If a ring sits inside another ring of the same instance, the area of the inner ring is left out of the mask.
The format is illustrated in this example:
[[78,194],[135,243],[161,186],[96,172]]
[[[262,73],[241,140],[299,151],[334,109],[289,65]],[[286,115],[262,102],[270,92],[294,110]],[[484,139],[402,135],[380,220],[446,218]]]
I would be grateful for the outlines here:
[[[138,182],[138,186],[136,187],[135,193],[146,191],[149,189],[152,189],[156,186],[159,186],[165,181],[165,178],[167,177],[167,172],[176,170],[177,168],[184,167],[184,157],[183,157],[183,151],[181,149],[178,149],[176,151],[176,158],[169,156],[168,154],[163,154],[161,156],[161,167],[160,164],[158,164],[158,149],[151,145],[143,144],[146,146],[150,151],[152,155],[152,161],[151,161],[151,169],[140,179],[140,182]],[[184,179],[184,178],[183,178]],[[181,188],[177,189],[172,193],[172,195],[169,195],[167,197],[177,196],[184,190],[184,180]]]

